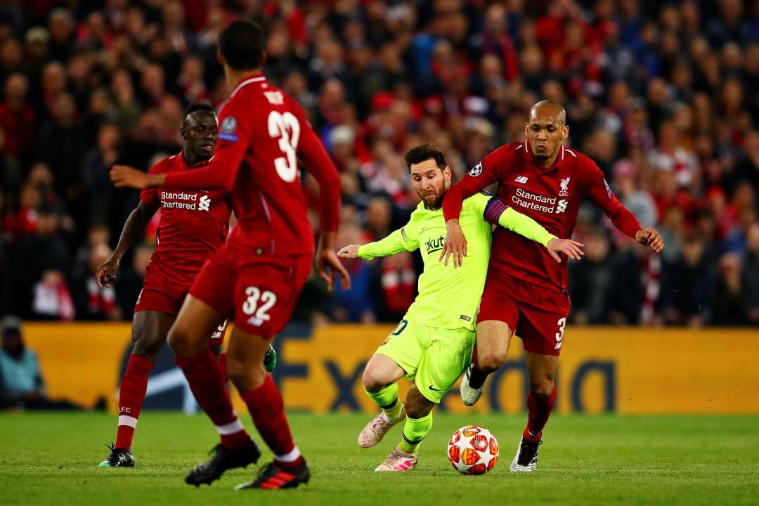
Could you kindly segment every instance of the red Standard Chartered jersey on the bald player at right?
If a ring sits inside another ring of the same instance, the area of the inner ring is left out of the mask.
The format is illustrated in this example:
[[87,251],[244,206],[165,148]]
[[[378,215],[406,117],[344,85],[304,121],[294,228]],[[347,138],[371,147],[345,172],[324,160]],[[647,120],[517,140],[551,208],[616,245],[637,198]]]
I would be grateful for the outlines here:
[[[502,202],[533,218],[556,237],[572,237],[583,198],[603,209],[616,228],[628,236],[635,237],[641,228],[614,196],[593,160],[561,146],[556,163],[543,169],[534,163],[528,141],[499,147],[453,185],[442,203],[446,221],[458,218],[462,200],[496,182]],[[505,272],[548,288],[567,288],[566,259],[556,263],[546,248],[502,227],[493,234],[488,275],[493,272]]]

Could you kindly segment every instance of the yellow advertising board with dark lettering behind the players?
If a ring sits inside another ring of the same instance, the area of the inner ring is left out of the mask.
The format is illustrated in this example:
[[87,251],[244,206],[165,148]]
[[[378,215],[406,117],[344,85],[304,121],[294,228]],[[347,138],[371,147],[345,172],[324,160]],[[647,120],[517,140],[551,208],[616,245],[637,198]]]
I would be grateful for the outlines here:
[[[364,365],[394,325],[288,327],[276,338],[274,378],[285,407],[314,413],[376,407],[364,394]],[[227,334],[229,335],[229,333]],[[26,323],[24,338],[39,356],[51,398],[90,406],[115,392],[130,351],[128,324]],[[167,352],[168,353],[168,352]],[[151,407],[187,407],[189,395],[171,360],[151,376]],[[453,389],[442,410],[518,412],[525,409],[521,341],[490,376],[485,394],[464,407]],[[759,332],[755,329],[569,327],[557,373],[559,412],[759,413]],[[408,385],[402,385],[405,392]],[[156,397],[158,398],[158,397]],[[239,411],[240,399],[233,396]]]

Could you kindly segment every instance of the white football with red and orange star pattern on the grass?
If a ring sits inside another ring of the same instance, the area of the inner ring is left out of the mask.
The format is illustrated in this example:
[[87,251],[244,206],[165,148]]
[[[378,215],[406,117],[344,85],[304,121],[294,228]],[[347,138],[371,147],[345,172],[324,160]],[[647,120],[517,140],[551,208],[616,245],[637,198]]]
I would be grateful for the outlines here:
[[448,442],[448,460],[461,474],[485,474],[498,462],[498,441],[488,429],[461,427]]

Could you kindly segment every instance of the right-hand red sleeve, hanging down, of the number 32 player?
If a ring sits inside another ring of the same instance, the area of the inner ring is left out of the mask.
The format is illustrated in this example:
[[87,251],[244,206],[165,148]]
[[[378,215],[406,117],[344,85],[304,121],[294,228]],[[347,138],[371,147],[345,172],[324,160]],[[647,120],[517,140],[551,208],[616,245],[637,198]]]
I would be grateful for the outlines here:
[[309,174],[319,184],[319,222],[323,231],[335,231],[340,218],[340,176],[327,155],[324,146],[314,134],[300,105],[290,100],[292,108],[301,123],[301,141],[298,143],[298,158]]

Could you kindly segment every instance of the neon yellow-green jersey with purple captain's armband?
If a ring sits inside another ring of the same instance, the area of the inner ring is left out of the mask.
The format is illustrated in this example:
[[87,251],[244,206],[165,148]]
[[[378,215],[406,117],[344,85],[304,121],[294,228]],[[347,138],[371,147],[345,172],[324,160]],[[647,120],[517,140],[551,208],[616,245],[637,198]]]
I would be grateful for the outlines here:
[[419,203],[404,227],[383,240],[364,244],[358,248],[358,256],[370,260],[404,250],[420,250],[424,272],[419,277],[419,294],[408,308],[408,316],[430,327],[474,330],[490,259],[492,226],[486,216],[543,246],[554,238],[532,218],[505,206],[495,196],[477,193],[464,200],[458,218],[467,238],[467,256],[461,267],[454,269],[452,261],[446,267],[438,261],[446,239],[446,220],[442,209],[432,211],[424,202]]

